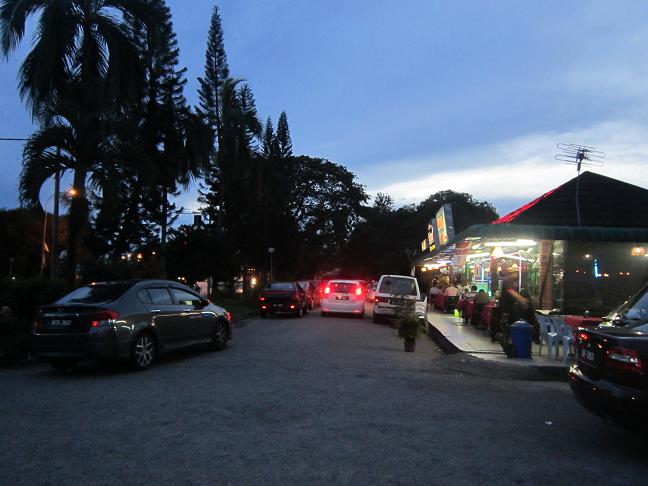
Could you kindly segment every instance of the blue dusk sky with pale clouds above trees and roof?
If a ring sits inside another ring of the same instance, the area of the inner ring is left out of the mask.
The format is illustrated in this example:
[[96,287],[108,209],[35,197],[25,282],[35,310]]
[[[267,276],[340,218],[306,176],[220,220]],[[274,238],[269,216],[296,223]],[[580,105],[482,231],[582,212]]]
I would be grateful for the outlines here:
[[[285,110],[296,154],[345,165],[372,195],[452,189],[504,214],[576,175],[558,142],[595,146],[596,172],[648,187],[645,1],[168,4],[191,104],[217,5],[261,120]],[[0,61],[0,137],[34,130],[16,88],[30,40]],[[0,144],[0,208],[12,208],[22,144]],[[181,201],[195,209],[195,190]]]

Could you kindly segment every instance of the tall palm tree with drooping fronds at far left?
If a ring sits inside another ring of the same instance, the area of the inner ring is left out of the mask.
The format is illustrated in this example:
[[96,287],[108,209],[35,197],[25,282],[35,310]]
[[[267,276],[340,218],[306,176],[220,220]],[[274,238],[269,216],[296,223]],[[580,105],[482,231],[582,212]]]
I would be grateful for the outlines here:
[[[55,121],[34,135],[25,149],[21,187],[26,191],[23,198],[28,200],[34,187],[44,181],[43,175],[51,174],[52,164],[70,163],[68,168],[74,170],[74,186],[79,193],[70,207],[68,272],[72,275],[81,230],[88,218],[86,176],[99,160],[96,150],[102,145],[90,146],[97,137],[85,138],[88,130],[84,119],[91,118],[95,128],[101,125],[108,107],[126,99],[132,90],[131,81],[140,79],[134,75],[139,68],[137,49],[124,18],[138,19],[153,29],[162,13],[157,3],[149,0],[1,0],[0,50],[5,58],[23,39],[27,19],[38,13],[32,50],[20,67],[21,98],[35,118],[41,118],[52,106],[69,105],[72,98],[76,114],[72,116],[67,110],[61,114],[67,123]],[[97,133],[102,132],[99,129]],[[69,159],[52,160],[55,134],[63,137],[57,144]],[[77,141],[76,150],[70,145],[73,140]],[[66,145],[72,151],[67,151]]]

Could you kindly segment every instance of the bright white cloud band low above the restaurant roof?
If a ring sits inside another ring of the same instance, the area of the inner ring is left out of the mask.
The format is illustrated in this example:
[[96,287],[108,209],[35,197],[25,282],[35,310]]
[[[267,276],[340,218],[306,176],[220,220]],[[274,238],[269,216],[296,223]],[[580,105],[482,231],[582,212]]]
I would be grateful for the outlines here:
[[648,187],[648,125],[632,121],[529,134],[493,145],[389,161],[375,165],[370,173],[360,172],[359,179],[370,194],[387,193],[400,204],[418,203],[437,191],[452,189],[508,211],[576,175],[575,166],[555,160],[557,142],[595,146],[606,152],[605,165],[584,170]]

